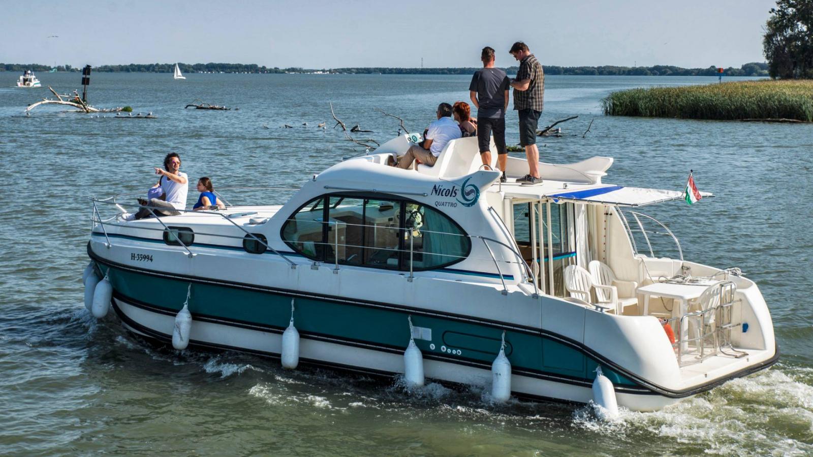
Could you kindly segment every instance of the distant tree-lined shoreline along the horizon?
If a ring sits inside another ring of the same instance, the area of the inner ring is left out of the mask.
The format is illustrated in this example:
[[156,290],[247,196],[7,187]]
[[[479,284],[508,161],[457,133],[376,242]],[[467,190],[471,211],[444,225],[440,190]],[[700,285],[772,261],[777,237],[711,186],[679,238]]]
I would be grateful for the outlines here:
[[[254,63],[178,63],[184,73],[310,73],[341,75],[471,75],[480,67],[342,67],[342,68],[302,68],[302,67],[265,67]],[[49,72],[50,65],[37,63],[0,63],[0,72]],[[544,65],[546,75],[569,76],[717,76],[717,67],[683,68],[671,65],[654,65],[653,67],[617,67],[603,65],[600,67],[560,67]],[[57,72],[79,72],[81,68],[70,65],[56,67]],[[101,65],[93,67],[93,72],[111,73],[172,73],[175,63],[130,63],[128,65]],[[518,67],[503,67],[509,74],[515,74]],[[768,76],[767,63],[746,63],[739,68],[724,69],[724,76]]]

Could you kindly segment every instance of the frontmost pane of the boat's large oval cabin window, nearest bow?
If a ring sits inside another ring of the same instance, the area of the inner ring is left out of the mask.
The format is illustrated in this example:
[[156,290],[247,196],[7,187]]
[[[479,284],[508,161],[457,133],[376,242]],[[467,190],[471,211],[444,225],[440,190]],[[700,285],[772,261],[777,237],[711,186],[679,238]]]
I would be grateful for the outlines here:
[[309,259],[324,259],[324,197],[307,202],[282,227],[282,241]]

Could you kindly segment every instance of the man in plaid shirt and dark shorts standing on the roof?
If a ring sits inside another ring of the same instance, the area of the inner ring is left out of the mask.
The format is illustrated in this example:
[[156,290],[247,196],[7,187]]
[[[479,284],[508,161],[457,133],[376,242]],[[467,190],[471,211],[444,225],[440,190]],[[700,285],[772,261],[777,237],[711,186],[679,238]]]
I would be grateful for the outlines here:
[[511,87],[514,88],[514,109],[520,114],[520,146],[524,146],[528,159],[528,174],[516,182],[521,185],[541,184],[537,124],[545,98],[545,72],[524,42],[515,42],[508,52],[520,61],[520,69],[516,72],[516,79],[511,81]]

